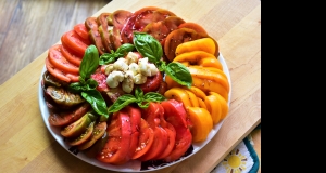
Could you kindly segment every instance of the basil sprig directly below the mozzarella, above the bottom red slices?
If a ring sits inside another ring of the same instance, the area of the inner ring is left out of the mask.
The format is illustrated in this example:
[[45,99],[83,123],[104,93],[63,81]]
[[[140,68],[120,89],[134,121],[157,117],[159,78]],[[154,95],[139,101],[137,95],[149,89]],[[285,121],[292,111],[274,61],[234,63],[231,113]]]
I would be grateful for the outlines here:
[[142,90],[136,88],[135,96],[131,94],[124,94],[120,96],[108,109],[109,112],[115,112],[129,104],[137,103],[140,108],[148,108],[150,102],[162,102],[166,99],[163,95],[155,92],[148,92],[143,94]]

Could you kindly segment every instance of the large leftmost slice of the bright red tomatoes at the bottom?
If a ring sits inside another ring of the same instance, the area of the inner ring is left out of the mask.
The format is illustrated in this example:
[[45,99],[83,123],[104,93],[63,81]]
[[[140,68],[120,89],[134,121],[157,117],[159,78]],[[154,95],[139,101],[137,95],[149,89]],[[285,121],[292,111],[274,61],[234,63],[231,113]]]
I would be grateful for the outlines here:
[[113,114],[106,132],[108,142],[96,158],[111,164],[127,162],[131,141],[130,117],[123,111]]

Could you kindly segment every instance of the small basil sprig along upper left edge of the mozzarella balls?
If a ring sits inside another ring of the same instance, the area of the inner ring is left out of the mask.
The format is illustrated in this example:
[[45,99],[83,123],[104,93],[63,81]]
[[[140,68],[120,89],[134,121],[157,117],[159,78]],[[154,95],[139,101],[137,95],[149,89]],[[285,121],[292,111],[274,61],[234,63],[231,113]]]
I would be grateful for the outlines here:
[[122,44],[115,52],[111,50],[111,53],[103,53],[100,56],[100,65],[114,63],[118,57],[124,57],[128,52],[135,50],[135,45],[130,43]]

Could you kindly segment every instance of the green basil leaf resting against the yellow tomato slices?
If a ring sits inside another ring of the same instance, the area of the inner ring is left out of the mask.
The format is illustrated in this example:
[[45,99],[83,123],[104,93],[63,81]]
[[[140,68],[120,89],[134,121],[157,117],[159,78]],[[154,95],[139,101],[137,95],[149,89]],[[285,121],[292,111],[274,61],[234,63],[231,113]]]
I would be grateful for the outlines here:
[[168,75],[174,81],[188,88],[192,84],[192,77],[188,68],[181,63],[170,63],[165,68],[166,75]]

